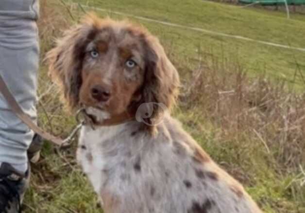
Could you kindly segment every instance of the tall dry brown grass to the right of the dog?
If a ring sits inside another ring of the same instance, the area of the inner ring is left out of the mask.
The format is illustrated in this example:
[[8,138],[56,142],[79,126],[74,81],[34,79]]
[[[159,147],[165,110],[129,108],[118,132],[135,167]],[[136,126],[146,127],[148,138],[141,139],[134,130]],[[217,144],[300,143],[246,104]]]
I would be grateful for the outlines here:
[[182,105],[200,106],[223,140],[246,134],[264,144],[280,170],[305,166],[305,93],[265,75],[249,78],[238,63],[216,60],[212,66],[201,61],[184,88]]

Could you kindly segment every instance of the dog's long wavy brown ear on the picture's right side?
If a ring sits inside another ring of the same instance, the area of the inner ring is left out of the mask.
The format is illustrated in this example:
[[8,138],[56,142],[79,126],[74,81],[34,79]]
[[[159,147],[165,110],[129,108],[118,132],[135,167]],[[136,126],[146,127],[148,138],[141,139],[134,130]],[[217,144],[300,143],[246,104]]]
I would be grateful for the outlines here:
[[153,124],[162,116],[164,107],[170,110],[175,104],[180,85],[179,75],[169,61],[164,48],[157,38],[149,35],[146,40],[145,83],[142,90],[142,103],[152,104],[153,111],[147,122]]

